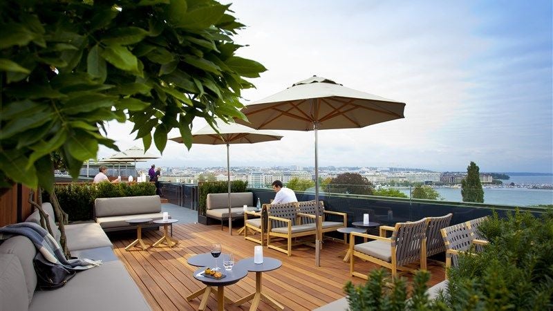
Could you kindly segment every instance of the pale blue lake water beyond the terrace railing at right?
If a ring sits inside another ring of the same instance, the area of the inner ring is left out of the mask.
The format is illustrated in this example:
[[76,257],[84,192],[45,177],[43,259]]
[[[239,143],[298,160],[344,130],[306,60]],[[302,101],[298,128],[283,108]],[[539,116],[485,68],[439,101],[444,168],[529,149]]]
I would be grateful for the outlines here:
[[[505,184],[514,182],[517,185],[553,184],[553,176],[511,176]],[[409,196],[409,189],[400,189]],[[462,202],[461,189],[435,188],[446,201]],[[484,202],[497,205],[530,206],[553,205],[553,190],[527,188],[485,188]]]

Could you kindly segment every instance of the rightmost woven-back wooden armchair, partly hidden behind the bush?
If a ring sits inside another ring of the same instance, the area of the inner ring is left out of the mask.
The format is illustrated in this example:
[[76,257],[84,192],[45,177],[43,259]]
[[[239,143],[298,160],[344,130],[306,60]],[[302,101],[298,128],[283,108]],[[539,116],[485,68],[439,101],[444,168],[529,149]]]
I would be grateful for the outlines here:
[[[445,252],[445,267],[446,267],[446,278],[447,278],[447,269],[449,267],[458,265],[458,255],[462,253],[474,254],[474,252],[479,252],[476,249],[476,245],[486,245],[487,241],[478,240],[475,238],[472,229],[469,227],[469,222],[460,223],[458,225],[453,225],[441,229],[442,238],[444,239],[444,245],[446,248]],[[472,252],[474,247],[474,252]]]

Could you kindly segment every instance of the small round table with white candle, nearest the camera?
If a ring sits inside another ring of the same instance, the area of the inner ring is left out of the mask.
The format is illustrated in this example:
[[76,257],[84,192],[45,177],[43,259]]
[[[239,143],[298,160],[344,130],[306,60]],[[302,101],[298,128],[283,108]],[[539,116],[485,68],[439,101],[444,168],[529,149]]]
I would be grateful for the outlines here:
[[245,258],[245,259],[242,259],[241,261],[238,261],[235,267],[238,266],[249,272],[255,272],[255,292],[245,296],[244,298],[238,299],[238,301],[236,301],[236,303],[234,304],[241,305],[246,301],[250,301],[253,299],[252,306],[250,307],[250,311],[251,311],[251,310],[257,309],[259,305],[259,301],[261,301],[261,299],[265,299],[265,301],[270,305],[272,305],[274,308],[284,310],[283,305],[278,303],[271,296],[269,296],[268,294],[265,294],[263,290],[261,290],[261,275],[263,274],[263,272],[277,270],[279,269],[279,267],[281,267],[281,265],[282,265],[281,261],[271,257],[263,257],[263,263],[254,263],[253,257]]

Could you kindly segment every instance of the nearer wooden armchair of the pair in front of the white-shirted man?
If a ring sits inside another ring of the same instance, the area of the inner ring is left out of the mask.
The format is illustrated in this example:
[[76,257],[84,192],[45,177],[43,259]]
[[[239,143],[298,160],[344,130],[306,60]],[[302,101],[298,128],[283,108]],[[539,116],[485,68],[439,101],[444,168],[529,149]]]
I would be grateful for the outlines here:
[[[292,238],[317,234],[312,224],[300,224],[299,219],[303,217],[315,220],[313,215],[298,212],[298,202],[271,205],[268,210],[267,247],[292,256]],[[271,238],[284,238],[287,247],[275,245],[271,242]]]

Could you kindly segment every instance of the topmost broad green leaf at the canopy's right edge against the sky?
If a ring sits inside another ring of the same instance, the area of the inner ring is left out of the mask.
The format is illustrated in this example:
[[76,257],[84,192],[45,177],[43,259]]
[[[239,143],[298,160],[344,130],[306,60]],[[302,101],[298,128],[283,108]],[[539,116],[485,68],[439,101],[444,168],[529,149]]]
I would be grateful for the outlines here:
[[[171,1],[172,3],[172,1]],[[229,6],[215,4],[213,6],[203,6],[196,10],[189,10],[185,15],[182,15],[178,21],[174,21],[177,28],[185,29],[203,29],[215,25],[225,14]]]

